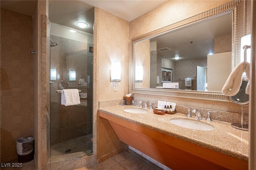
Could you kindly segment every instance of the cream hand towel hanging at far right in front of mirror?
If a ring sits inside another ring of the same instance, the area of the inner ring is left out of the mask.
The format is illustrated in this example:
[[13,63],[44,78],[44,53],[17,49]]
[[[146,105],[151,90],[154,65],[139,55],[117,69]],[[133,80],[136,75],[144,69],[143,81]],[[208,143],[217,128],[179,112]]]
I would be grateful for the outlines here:
[[[250,81],[250,63],[246,62],[246,77]],[[222,87],[222,93],[225,96],[234,96],[238,93],[241,84],[242,84],[242,75],[244,73],[244,62],[238,64],[230,73],[228,76],[228,79],[224,86]],[[249,91],[249,82],[246,86],[246,94],[248,94]]]

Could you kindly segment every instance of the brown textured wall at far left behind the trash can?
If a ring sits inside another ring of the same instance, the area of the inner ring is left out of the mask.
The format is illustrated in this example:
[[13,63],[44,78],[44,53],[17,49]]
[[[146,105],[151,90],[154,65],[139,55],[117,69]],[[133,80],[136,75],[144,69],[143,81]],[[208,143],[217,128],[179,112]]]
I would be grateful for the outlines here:
[[32,17],[1,8],[1,162],[33,136]]

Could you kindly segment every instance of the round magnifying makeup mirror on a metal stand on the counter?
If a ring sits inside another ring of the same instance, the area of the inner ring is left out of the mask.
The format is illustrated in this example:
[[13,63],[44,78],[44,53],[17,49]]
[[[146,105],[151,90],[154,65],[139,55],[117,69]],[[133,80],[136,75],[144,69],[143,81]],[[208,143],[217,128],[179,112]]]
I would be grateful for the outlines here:
[[242,85],[238,91],[238,93],[234,96],[230,96],[230,99],[240,105],[242,107],[242,114],[241,114],[241,124],[239,123],[232,123],[231,126],[234,128],[238,128],[240,130],[248,130],[248,125],[244,125],[244,106],[249,105],[249,95],[245,93],[245,89],[247,86],[248,80],[243,79]]

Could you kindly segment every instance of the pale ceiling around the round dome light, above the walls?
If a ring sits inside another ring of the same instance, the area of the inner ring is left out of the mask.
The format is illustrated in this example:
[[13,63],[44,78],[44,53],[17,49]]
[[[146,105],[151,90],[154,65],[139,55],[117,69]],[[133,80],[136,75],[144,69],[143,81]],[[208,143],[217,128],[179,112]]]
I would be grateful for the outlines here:
[[[168,0],[48,0],[50,22],[93,33],[94,6],[128,22],[160,6]],[[1,8],[33,15],[35,0],[1,0]],[[86,22],[81,29],[76,22]]]

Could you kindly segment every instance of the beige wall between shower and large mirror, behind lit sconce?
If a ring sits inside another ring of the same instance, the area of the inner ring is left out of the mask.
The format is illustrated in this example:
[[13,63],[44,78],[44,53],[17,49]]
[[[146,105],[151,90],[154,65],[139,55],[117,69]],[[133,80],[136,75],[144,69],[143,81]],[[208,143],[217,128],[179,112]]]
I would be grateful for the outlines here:
[[[98,101],[122,99],[128,93],[129,23],[100,8],[95,22],[98,24],[97,67]],[[110,81],[111,62],[121,62],[121,81],[114,91]]]

